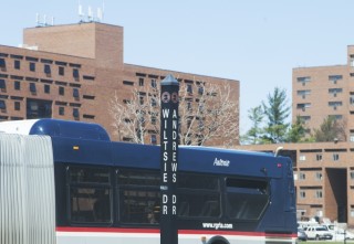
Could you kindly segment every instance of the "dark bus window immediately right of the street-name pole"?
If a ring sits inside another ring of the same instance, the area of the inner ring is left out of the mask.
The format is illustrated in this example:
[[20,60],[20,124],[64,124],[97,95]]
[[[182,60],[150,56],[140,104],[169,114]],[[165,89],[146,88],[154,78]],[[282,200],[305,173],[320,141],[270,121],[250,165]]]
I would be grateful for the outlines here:
[[178,176],[178,208],[180,218],[219,218],[219,179],[208,174]]

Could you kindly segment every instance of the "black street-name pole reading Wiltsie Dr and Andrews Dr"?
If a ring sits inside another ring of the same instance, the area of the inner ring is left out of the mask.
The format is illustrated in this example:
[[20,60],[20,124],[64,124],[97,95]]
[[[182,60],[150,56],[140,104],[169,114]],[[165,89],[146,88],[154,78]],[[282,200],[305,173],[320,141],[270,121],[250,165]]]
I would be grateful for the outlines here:
[[173,75],[168,75],[160,85],[160,244],[178,244],[176,184],[179,84]]

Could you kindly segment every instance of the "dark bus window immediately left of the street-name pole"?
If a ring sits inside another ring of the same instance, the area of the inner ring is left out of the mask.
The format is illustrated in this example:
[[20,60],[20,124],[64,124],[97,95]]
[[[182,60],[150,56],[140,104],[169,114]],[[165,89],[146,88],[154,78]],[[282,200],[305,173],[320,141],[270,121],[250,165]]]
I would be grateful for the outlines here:
[[121,169],[117,173],[119,221],[128,224],[158,224],[158,171]]

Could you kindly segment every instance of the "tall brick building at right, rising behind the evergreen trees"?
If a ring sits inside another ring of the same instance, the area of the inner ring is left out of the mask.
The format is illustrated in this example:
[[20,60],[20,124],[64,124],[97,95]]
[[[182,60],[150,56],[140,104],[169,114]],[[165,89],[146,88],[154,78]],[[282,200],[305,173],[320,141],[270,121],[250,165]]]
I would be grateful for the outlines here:
[[292,77],[292,116],[303,118],[311,129],[327,116],[343,123],[343,141],[354,141],[354,46],[347,46],[344,65],[296,67]]

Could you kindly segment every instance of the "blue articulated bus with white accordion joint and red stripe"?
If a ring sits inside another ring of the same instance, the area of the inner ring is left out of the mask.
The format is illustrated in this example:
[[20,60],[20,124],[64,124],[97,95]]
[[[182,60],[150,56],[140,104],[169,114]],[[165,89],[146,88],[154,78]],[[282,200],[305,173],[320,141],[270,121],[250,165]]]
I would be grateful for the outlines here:
[[[0,131],[1,243],[159,244],[158,146],[56,119],[4,121]],[[178,243],[296,242],[289,158],[178,150]]]

